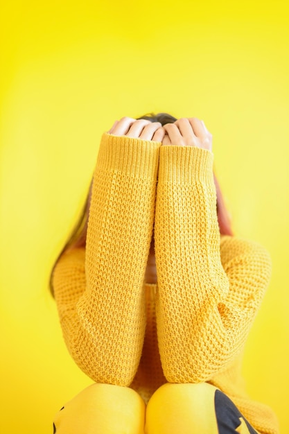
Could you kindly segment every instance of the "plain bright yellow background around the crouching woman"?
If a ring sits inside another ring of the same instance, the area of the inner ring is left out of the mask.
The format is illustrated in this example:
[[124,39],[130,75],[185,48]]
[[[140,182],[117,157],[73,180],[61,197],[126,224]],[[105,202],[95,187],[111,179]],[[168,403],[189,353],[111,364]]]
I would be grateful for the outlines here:
[[62,340],[51,267],[102,132],[166,111],[204,120],[234,232],[272,256],[244,375],[288,433],[288,1],[5,3],[0,431],[52,434],[55,412],[91,383]]

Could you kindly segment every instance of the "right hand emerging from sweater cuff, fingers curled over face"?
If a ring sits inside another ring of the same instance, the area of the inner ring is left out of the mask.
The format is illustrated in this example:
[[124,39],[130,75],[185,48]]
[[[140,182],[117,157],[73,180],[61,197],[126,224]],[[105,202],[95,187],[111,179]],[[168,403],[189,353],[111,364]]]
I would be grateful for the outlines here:
[[213,136],[200,119],[177,119],[174,123],[166,123],[163,128],[166,132],[163,145],[196,146],[212,150]]

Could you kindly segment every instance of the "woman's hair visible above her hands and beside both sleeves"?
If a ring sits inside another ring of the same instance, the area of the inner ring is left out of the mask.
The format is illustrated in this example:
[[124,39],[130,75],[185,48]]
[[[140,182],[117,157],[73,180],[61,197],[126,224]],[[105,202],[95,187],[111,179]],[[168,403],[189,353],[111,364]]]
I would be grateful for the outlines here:
[[[177,118],[174,116],[171,116],[168,113],[148,113],[143,116],[140,116],[136,119],[147,119],[151,122],[160,122],[161,125],[165,125],[166,123],[174,123],[177,121]],[[213,174],[213,179],[216,186],[216,193],[217,193],[217,214],[218,214],[218,224],[220,229],[220,234],[222,235],[232,235],[231,231],[231,222],[229,218],[229,214],[227,212],[227,209],[225,207],[225,202],[222,198],[222,193],[220,191],[220,186],[218,184],[218,180],[216,179],[215,174]],[[64,252],[66,252],[69,249],[72,248],[85,248],[86,245],[86,238],[87,238],[87,223],[88,223],[88,216],[89,216],[89,205],[90,205],[90,198],[91,198],[91,189],[92,189],[92,180],[91,184],[89,186],[89,192],[87,193],[87,198],[85,200],[85,204],[83,205],[80,217],[78,219],[78,222],[76,223],[75,227],[71,231],[71,234],[69,235],[69,238],[67,239],[67,242],[64,244],[64,247],[62,248],[60,254],[58,254],[57,259],[55,260],[55,263],[53,265],[50,280],[49,280],[49,286],[51,290],[51,294],[53,295],[53,271],[55,269],[56,264],[58,263],[60,257]]]

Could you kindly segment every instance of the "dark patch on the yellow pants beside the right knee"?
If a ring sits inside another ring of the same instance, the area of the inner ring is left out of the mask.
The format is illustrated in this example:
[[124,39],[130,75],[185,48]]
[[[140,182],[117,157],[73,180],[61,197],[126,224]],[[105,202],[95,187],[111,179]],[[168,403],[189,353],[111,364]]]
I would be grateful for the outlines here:
[[231,399],[220,390],[216,390],[215,392],[215,413],[219,434],[236,434],[236,428],[240,426],[240,417],[247,425],[250,434],[258,434],[240,413]]

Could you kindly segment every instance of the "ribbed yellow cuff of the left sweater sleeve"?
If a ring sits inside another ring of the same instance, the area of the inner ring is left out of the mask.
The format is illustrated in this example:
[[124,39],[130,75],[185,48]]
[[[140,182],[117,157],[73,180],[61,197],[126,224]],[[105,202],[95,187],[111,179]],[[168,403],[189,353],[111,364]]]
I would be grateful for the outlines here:
[[143,177],[157,176],[161,142],[103,133],[97,167]]

